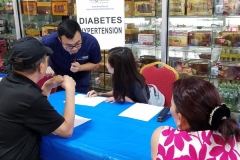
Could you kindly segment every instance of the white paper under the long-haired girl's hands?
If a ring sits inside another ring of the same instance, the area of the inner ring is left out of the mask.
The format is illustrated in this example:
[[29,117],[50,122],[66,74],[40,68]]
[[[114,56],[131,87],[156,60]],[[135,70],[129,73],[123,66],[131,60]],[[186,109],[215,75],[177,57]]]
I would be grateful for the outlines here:
[[102,101],[106,100],[106,97],[85,97],[85,96],[86,96],[85,94],[75,95],[75,104],[95,107]]

